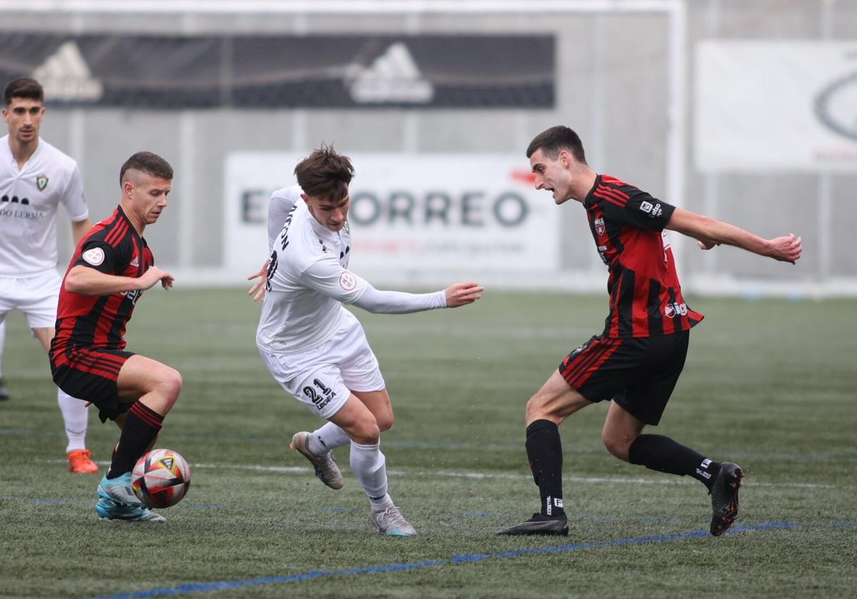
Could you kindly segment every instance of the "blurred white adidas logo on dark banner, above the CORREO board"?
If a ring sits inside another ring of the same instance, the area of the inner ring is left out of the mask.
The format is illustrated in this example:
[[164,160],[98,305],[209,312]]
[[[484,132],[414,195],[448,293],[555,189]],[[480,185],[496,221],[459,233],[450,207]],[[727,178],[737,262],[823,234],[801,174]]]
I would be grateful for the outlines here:
[[358,104],[427,104],[434,98],[434,86],[423,79],[417,62],[402,42],[387,48],[369,68],[358,67],[351,77],[351,99]]

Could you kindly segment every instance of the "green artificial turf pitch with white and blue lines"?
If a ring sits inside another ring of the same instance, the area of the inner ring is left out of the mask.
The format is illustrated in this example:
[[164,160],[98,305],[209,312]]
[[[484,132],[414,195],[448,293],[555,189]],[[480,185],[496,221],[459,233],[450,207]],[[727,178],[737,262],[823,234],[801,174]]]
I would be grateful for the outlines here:
[[[410,539],[370,531],[345,448],[339,491],[288,450],[321,421],[267,373],[259,306],[240,289],[137,305],[129,349],[184,377],[158,446],[189,460],[193,483],[163,525],[99,521],[100,475],[67,470],[47,359],[13,314],[0,597],[857,596],[857,302],[691,304],[706,319],[653,430],[744,467],[739,528],[719,538],[701,484],[602,448],[604,405],[560,428],[569,536],[494,535],[538,505],[524,404],[602,329],[606,296],[488,291],[458,310],[358,313],[396,413],[382,448]],[[117,437],[91,414],[102,472]]]

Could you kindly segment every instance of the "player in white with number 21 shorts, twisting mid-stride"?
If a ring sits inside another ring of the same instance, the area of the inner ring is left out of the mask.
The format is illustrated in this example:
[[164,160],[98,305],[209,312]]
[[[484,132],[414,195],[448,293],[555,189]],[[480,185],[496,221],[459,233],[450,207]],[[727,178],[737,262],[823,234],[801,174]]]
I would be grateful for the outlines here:
[[297,164],[295,175],[296,186],[273,193],[271,257],[249,277],[261,277],[249,293],[265,295],[256,344],[277,382],[328,421],[312,433],[296,433],[290,447],[309,459],[323,483],[340,489],[331,450],[350,444],[351,470],[369,496],[371,525],[381,534],[412,537],[416,531],[387,493],[380,447],[381,432],[393,425],[393,406],[363,327],[343,304],[404,314],[471,304],[483,288],[465,282],[433,294],[375,289],[348,270],[351,161],[322,146]]

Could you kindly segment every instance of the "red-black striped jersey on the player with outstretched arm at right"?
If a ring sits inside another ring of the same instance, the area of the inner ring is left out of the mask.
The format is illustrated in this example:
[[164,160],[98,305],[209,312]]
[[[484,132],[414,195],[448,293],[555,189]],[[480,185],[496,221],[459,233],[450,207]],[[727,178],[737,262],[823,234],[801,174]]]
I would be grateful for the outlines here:
[[584,199],[592,237],[609,270],[607,337],[654,337],[690,329],[704,317],[681,296],[663,228],[675,207],[610,175]]

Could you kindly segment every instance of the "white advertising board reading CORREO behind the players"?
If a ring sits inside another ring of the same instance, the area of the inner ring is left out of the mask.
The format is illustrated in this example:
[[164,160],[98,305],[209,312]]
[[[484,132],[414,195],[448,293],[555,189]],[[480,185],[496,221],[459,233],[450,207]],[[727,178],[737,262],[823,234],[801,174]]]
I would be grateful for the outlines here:
[[[309,152],[308,152],[309,153]],[[294,185],[307,154],[236,153],[225,165],[225,266],[267,256],[271,193]],[[559,269],[560,214],[518,155],[349,154],[351,268],[433,278],[445,273],[547,275]]]

